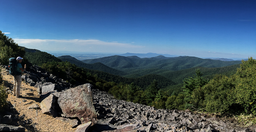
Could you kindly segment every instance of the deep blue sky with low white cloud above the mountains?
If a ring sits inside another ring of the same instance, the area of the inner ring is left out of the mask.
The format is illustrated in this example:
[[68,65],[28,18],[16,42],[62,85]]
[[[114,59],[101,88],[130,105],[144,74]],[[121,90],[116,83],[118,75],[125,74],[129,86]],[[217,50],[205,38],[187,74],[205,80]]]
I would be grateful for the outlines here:
[[256,57],[256,0],[4,0],[1,5],[0,30],[26,48]]

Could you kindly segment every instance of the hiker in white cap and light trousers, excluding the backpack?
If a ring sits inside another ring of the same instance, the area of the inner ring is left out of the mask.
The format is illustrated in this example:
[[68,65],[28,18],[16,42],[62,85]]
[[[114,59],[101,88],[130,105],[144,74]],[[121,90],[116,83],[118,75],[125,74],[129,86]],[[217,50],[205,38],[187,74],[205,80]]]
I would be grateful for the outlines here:
[[24,66],[24,68],[22,68],[22,65],[20,64],[22,62],[22,57],[17,57],[17,67],[16,67],[16,71],[19,72],[20,74],[18,75],[14,75],[14,86],[13,86],[13,95],[16,96],[16,98],[20,98],[22,97],[20,95],[20,84],[21,84],[21,72],[24,72],[25,69],[27,68],[26,64]]

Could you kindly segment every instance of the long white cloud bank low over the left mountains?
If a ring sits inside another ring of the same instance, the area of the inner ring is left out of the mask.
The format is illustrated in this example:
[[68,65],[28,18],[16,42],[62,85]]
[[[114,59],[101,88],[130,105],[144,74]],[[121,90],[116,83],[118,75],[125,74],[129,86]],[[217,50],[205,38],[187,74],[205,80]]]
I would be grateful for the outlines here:
[[67,50],[78,52],[139,52],[145,46],[100,41],[97,39],[19,39],[14,38],[15,43],[30,49],[38,50]]

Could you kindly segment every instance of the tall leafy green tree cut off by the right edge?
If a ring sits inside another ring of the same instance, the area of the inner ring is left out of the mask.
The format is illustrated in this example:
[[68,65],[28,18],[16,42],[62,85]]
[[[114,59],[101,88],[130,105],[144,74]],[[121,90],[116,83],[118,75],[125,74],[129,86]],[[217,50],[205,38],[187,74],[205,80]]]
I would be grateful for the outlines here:
[[242,60],[241,68],[237,69],[237,102],[242,104],[246,113],[256,114],[256,60]]

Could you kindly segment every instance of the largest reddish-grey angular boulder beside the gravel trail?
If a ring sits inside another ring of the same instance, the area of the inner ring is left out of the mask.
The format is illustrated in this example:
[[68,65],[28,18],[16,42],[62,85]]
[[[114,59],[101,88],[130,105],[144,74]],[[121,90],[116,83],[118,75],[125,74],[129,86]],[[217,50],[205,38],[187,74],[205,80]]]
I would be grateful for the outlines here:
[[58,104],[65,117],[78,117],[82,124],[91,121],[97,123],[97,115],[93,105],[91,84],[83,84],[63,92],[53,93],[58,97]]

